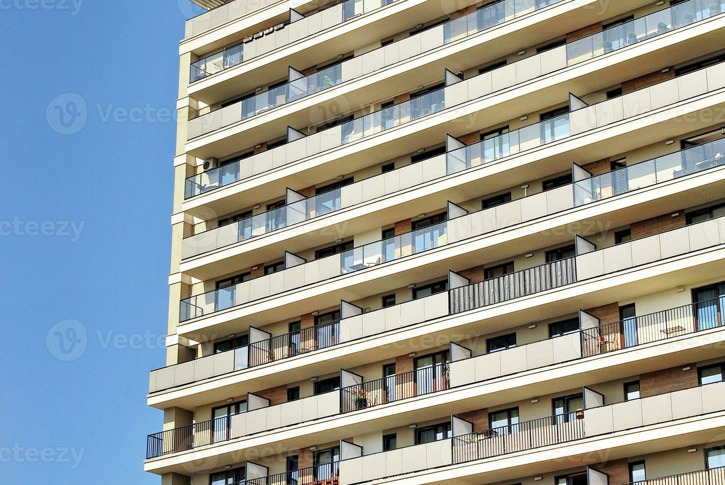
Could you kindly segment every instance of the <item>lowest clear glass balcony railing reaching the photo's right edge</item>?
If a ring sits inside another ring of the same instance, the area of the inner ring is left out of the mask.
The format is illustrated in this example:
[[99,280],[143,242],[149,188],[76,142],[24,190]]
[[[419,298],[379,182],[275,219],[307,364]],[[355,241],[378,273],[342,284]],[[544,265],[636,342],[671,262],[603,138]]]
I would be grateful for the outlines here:
[[573,184],[574,206],[725,165],[725,138],[602,173]]

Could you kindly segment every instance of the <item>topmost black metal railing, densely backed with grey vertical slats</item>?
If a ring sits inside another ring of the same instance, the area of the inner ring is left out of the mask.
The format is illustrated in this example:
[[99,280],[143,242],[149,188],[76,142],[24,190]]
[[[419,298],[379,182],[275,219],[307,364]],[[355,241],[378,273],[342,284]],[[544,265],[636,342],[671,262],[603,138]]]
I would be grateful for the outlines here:
[[451,314],[576,283],[576,257],[460,286],[450,291]]

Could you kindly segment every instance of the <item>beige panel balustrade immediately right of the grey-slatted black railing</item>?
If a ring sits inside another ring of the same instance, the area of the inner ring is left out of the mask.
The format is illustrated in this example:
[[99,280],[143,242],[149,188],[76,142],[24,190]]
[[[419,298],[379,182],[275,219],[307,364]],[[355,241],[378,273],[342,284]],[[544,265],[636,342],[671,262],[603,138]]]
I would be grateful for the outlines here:
[[702,223],[653,234],[587,254],[579,254],[576,257],[576,279],[583,281],[596,278],[724,243],[725,217],[705,220]]

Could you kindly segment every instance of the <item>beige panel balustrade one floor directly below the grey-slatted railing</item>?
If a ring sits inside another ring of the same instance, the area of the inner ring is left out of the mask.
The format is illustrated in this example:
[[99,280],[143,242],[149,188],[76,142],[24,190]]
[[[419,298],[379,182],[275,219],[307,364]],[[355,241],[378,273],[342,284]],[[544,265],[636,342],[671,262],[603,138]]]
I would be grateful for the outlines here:
[[450,386],[464,386],[581,357],[579,332],[450,362]]

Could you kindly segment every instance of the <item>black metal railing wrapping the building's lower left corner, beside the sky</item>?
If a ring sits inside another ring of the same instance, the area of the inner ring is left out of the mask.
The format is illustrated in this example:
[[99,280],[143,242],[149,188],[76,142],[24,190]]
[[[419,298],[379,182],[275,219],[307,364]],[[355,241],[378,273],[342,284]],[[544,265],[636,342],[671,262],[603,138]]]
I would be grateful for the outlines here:
[[149,434],[146,438],[146,459],[225,442],[231,438],[231,432],[231,416],[222,416]]

